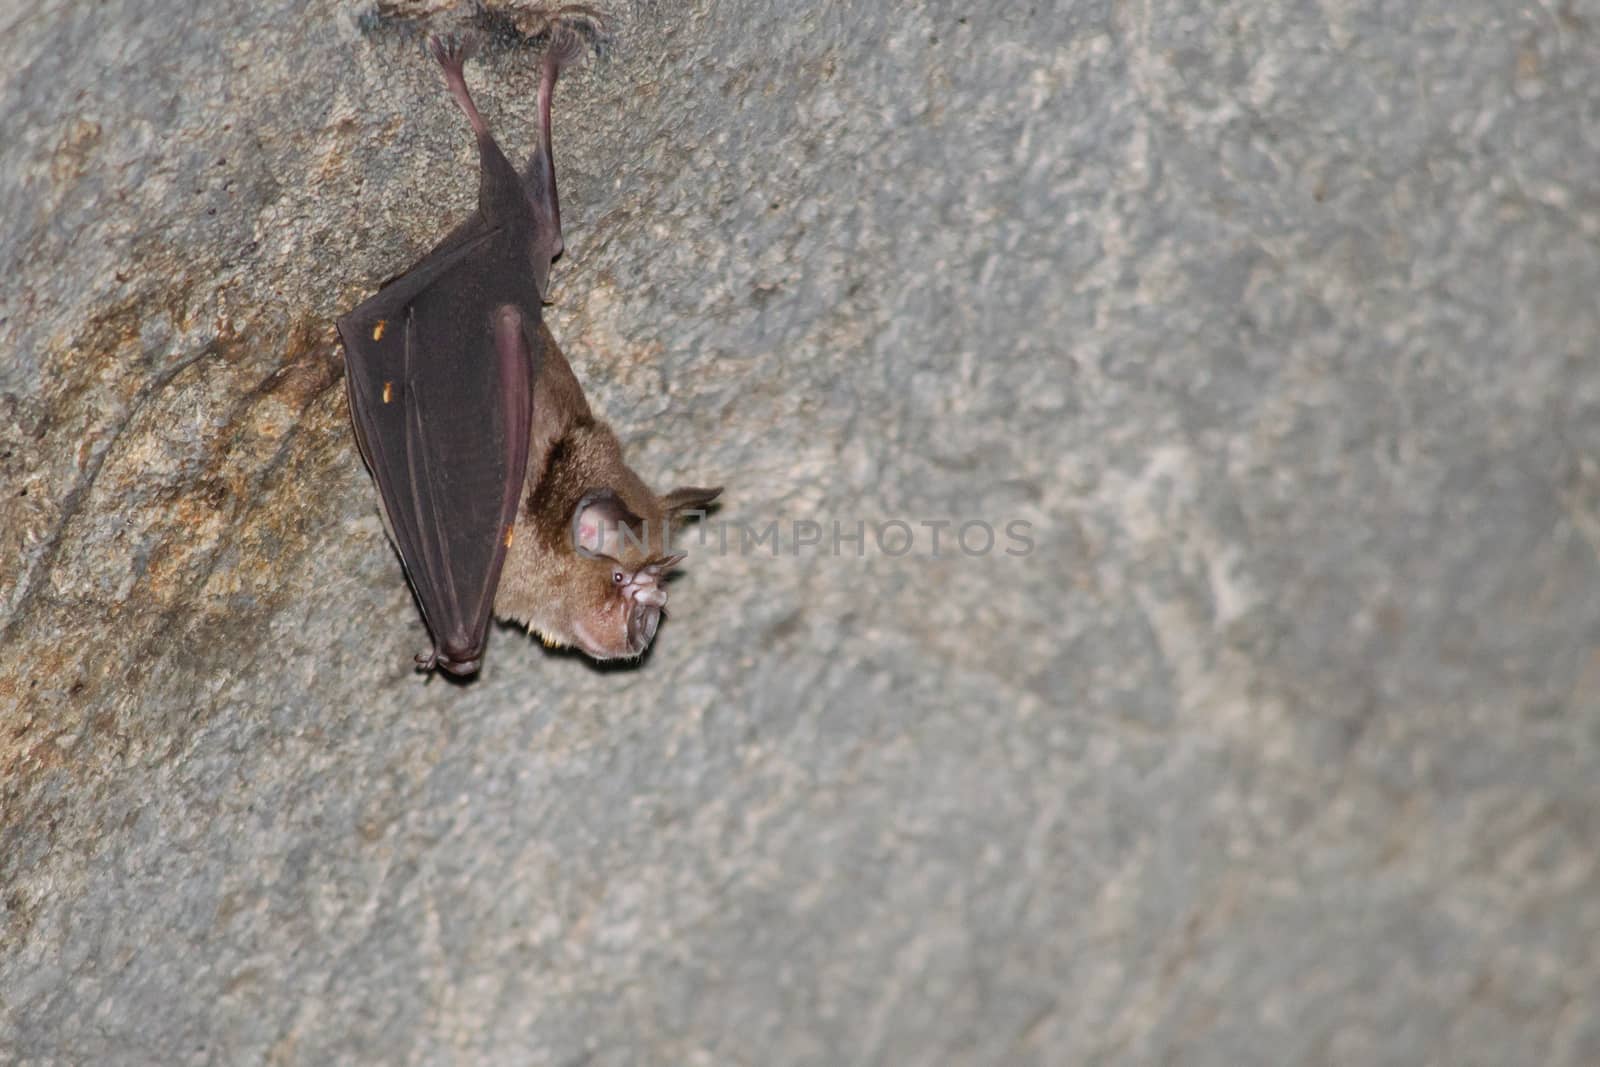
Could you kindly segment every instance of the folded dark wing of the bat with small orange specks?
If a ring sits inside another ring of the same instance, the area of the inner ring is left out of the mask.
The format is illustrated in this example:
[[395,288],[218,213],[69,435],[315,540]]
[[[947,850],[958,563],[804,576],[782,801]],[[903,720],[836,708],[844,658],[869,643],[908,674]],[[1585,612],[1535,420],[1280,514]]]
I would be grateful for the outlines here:
[[539,299],[520,230],[445,246],[339,320],[357,442],[454,673],[483,653],[528,462]]

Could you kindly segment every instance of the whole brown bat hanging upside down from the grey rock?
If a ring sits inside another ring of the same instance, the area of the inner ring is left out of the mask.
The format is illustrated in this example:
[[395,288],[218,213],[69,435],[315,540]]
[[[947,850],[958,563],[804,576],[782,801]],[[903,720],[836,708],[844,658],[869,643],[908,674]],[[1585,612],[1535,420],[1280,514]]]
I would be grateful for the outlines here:
[[563,251],[550,98],[582,40],[552,30],[523,173],[467,91],[470,40],[429,48],[477,136],[478,208],[338,323],[355,440],[434,638],[418,667],[477,672],[491,614],[595,659],[640,656],[683,558],[670,523],[720,490],[653,493],[542,320]]

